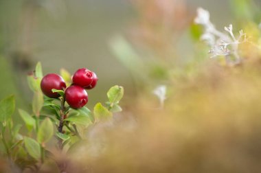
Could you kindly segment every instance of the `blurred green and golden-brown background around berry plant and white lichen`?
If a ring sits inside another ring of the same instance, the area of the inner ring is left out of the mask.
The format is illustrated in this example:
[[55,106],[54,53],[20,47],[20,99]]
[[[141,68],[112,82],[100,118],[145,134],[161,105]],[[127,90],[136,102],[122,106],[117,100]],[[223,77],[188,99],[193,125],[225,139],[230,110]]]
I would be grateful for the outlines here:
[[[233,24],[235,33],[253,38],[240,47],[242,65],[209,59],[203,28],[194,24],[198,7],[218,30]],[[38,61],[45,74],[87,67],[99,78],[87,107],[104,102],[118,84],[124,111],[114,128],[90,130],[91,142],[73,152],[81,166],[258,173],[260,9],[260,0],[0,0],[0,99],[14,93],[18,107],[29,109],[27,73]],[[152,93],[161,84],[167,87],[163,109]]]

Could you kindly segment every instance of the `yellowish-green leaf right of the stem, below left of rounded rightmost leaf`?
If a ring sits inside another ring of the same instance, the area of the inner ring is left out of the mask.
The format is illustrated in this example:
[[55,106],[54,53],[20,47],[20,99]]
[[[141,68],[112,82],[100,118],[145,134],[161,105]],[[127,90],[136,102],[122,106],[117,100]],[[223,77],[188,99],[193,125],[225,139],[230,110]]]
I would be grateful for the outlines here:
[[102,120],[110,119],[113,117],[112,113],[102,106],[101,103],[98,103],[94,106],[94,116],[95,116],[95,121],[100,122]]

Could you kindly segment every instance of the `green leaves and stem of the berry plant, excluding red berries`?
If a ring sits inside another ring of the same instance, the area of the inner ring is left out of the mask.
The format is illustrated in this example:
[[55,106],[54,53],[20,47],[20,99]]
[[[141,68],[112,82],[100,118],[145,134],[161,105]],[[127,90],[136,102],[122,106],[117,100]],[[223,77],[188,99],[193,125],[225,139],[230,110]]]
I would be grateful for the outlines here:
[[[69,72],[62,69],[61,76],[66,79],[67,86],[71,85]],[[14,124],[11,116],[14,113],[14,95],[0,101],[1,140],[5,154],[12,159],[19,168],[37,167],[45,164],[49,155],[47,145],[54,135],[58,139],[58,147],[63,150],[65,146],[71,148],[74,143],[86,139],[84,132],[89,126],[100,121],[106,121],[113,117],[113,112],[122,111],[119,102],[124,95],[124,89],[120,86],[111,87],[107,96],[107,107],[101,103],[96,104],[93,112],[87,107],[74,109],[65,104],[65,91],[52,89],[62,97],[49,98],[41,92],[41,79],[43,72],[41,63],[38,62],[34,73],[27,76],[30,89],[34,92],[32,99],[32,111],[19,109],[19,115],[27,128],[27,136],[20,134],[21,124]],[[56,131],[54,130],[56,126]],[[60,128],[62,127],[62,128]],[[5,133],[10,132],[10,138]],[[41,161],[40,161],[41,160]]]

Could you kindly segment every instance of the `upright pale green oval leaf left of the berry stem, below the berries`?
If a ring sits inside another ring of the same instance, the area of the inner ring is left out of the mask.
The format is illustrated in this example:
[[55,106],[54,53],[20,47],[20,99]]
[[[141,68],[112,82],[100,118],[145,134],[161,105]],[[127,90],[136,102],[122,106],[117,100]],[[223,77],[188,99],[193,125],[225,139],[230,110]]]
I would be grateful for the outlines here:
[[54,135],[54,126],[52,124],[51,119],[45,118],[41,123],[38,133],[37,133],[37,141],[39,143],[46,143],[49,141]]

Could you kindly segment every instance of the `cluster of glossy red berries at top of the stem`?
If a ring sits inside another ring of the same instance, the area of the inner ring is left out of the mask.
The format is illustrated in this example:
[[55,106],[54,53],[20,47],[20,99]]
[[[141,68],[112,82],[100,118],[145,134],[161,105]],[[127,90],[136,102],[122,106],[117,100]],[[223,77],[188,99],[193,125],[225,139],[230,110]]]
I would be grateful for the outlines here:
[[96,74],[89,69],[78,69],[72,76],[72,84],[66,87],[65,80],[56,73],[49,73],[41,80],[41,89],[47,97],[58,98],[60,95],[52,89],[65,90],[65,100],[71,108],[81,108],[88,102],[84,89],[93,89],[98,81]]

